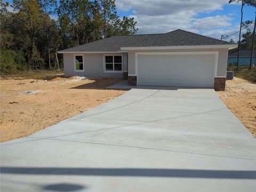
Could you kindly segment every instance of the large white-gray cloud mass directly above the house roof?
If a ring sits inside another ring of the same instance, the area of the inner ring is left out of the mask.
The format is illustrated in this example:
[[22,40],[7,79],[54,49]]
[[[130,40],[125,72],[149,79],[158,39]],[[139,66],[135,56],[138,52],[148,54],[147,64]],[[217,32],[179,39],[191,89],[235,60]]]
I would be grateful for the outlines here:
[[220,33],[226,34],[231,30],[236,30],[231,28],[233,20],[231,15],[215,15],[199,19],[196,17],[200,13],[222,10],[225,4],[228,4],[227,0],[116,1],[119,11],[132,11],[133,14],[130,17],[134,17],[138,22],[138,34],[166,33],[180,28],[215,38],[220,38],[222,35]]

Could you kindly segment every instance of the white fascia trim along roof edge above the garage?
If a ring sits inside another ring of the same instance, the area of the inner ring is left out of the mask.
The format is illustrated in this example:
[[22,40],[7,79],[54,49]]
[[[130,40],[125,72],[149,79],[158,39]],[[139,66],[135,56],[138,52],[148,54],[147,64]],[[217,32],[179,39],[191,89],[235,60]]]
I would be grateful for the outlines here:
[[143,47],[121,47],[121,50],[213,49],[213,48],[234,49],[236,47],[237,47],[237,44],[227,44],[227,45],[184,45],[184,46],[143,46]]

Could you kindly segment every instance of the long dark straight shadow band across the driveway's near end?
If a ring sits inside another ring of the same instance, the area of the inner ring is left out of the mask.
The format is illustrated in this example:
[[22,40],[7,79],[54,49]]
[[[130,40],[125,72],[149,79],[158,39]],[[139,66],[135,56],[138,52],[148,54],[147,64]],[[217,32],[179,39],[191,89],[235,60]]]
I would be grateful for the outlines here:
[[85,175],[111,177],[175,177],[256,179],[256,171],[234,170],[187,170],[187,169],[142,169],[142,168],[56,168],[56,167],[1,167],[1,174],[39,175]]

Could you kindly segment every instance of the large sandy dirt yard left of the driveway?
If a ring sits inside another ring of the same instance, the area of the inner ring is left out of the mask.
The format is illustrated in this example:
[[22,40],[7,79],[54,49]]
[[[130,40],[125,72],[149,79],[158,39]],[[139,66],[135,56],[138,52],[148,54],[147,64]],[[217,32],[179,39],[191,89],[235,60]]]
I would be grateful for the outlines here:
[[125,93],[121,78],[1,79],[1,142],[25,137]]

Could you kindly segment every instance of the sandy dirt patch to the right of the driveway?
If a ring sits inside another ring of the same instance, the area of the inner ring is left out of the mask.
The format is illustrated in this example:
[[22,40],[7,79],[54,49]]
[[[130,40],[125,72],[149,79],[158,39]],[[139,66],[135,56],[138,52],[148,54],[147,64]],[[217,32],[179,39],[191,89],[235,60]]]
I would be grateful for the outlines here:
[[226,81],[226,91],[217,94],[256,137],[256,84],[235,77]]

